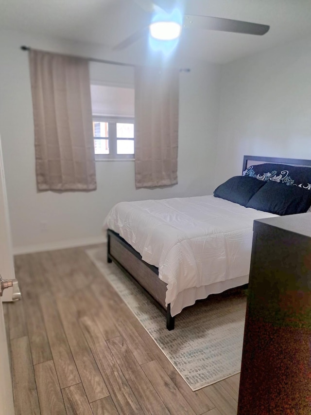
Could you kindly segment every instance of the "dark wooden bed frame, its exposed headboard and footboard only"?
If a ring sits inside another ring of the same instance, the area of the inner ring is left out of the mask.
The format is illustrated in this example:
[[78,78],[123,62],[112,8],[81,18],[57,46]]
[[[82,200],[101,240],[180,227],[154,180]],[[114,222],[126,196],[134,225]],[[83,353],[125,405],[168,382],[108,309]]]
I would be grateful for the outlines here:
[[[244,156],[243,168],[262,163],[278,163],[296,166],[311,167],[311,160],[284,159],[263,156]],[[114,262],[126,275],[134,280],[155,300],[155,304],[166,313],[166,327],[173,330],[175,317],[171,315],[171,305],[165,305],[166,283],[158,278],[158,268],[141,259],[141,255],[135,251],[120,235],[108,229],[107,231],[107,261]]]

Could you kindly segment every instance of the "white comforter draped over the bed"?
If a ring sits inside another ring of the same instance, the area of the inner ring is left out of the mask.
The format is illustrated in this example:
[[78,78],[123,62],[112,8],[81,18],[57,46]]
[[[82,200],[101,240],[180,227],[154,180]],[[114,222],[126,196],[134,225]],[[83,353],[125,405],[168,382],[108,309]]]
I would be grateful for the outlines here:
[[248,281],[253,221],[274,217],[214,196],[121,202],[104,220],[167,283],[172,316]]

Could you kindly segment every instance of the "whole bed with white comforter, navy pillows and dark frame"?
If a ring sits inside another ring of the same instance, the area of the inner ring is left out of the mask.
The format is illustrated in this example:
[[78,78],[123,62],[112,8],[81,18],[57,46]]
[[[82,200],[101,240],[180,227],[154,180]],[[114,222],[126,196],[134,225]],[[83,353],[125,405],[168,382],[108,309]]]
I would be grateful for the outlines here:
[[254,219],[306,212],[311,161],[244,156],[213,195],[121,202],[104,220],[107,261],[134,278],[174,328],[183,308],[248,283]]

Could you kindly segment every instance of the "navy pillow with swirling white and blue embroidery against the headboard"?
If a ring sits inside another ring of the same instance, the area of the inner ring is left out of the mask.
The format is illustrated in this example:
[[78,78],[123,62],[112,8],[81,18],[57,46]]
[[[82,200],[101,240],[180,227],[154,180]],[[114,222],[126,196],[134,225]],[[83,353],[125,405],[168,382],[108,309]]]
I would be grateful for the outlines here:
[[273,180],[278,183],[311,189],[311,167],[263,163],[248,167],[243,171],[242,176],[255,177],[265,181]]

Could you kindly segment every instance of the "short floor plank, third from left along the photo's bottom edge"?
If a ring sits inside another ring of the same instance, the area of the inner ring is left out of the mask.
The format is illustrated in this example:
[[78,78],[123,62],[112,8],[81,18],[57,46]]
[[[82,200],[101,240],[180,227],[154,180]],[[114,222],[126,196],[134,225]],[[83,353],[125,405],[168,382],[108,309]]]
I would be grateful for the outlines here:
[[82,383],[62,390],[67,415],[92,415]]

